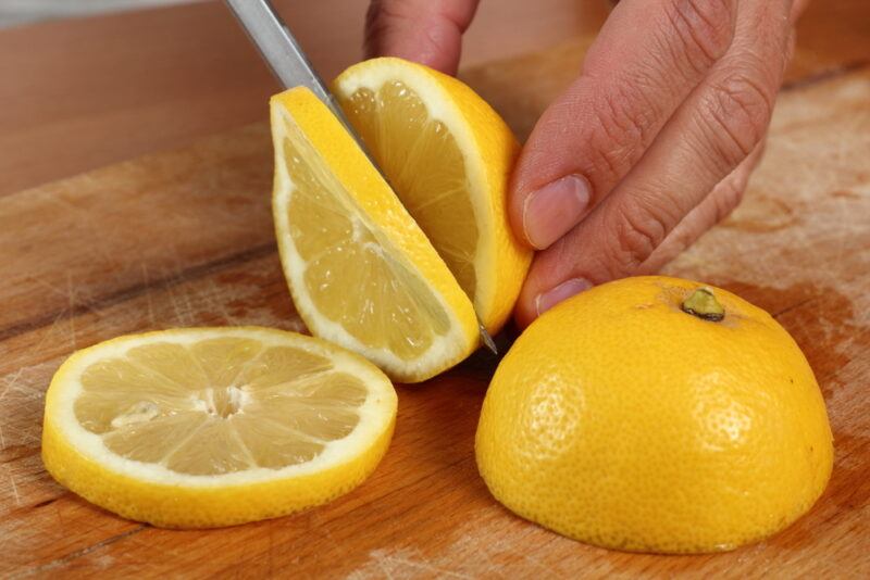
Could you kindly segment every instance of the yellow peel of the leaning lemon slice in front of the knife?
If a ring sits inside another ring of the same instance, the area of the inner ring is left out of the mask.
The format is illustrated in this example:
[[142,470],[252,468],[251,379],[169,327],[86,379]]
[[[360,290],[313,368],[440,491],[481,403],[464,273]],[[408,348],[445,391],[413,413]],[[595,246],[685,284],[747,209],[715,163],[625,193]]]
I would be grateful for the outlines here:
[[[474,306],[447,268],[447,264],[440,259],[381,174],[374,169],[352,137],[326,105],[306,87],[296,87],[273,96],[270,105],[273,139],[281,138],[275,131],[274,125],[278,122],[279,111],[286,110],[293,115],[306,138],[323,156],[335,177],[352,196],[368,218],[380,228],[394,248],[399,250],[401,256],[421,273],[435,293],[442,297],[459,329],[459,340],[455,345],[452,356],[408,366],[380,363],[383,370],[399,382],[420,382],[465,360],[480,343]],[[284,163],[278,155],[277,142],[274,143],[274,148],[275,165]],[[275,172],[272,209],[275,235],[278,239],[278,254],[299,316],[313,335],[320,336],[324,332],[320,313],[309,306],[310,300],[302,295],[304,289],[290,283],[290,277],[287,275],[291,257],[285,243],[287,243],[286,240],[291,239],[291,235],[284,226],[286,220],[277,215],[278,203],[274,201],[279,194],[277,175]],[[352,350],[350,344],[343,344],[343,346]]]

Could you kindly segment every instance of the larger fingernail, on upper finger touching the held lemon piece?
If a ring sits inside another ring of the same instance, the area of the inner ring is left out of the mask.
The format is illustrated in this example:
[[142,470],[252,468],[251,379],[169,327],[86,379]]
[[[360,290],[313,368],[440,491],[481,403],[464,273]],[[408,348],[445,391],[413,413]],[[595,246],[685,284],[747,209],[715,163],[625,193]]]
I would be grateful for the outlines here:
[[582,175],[566,175],[530,193],[523,205],[529,242],[543,250],[577,225],[589,204],[589,190]]

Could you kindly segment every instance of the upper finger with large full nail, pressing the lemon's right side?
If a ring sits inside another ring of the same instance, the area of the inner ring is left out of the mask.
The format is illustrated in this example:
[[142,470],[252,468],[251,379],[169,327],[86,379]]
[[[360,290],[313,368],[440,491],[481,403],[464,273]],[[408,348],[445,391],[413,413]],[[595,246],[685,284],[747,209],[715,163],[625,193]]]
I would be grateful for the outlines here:
[[613,10],[580,78],[540,117],[514,169],[510,217],[530,245],[559,239],[643,156],[730,47],[736,4],[635,1]]

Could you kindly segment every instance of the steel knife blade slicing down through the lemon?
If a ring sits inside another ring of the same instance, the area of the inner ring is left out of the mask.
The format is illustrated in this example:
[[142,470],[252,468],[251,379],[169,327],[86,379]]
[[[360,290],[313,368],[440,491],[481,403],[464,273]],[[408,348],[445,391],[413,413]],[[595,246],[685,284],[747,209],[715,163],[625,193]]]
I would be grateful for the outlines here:
[[[330,111],[338,118],[345,129],[350,134],[362,152],[369,157],[369,162],[388,182],[384,172],[372,157],[365,143],[348,122],[341,108],[323,79],[320,78],[306,53],[299,47],[287,25],[277,15],[272,2],[269,0],[224,0],[229,10],[235,14],[241,27],[250,37],[251,41],[259,49],[260,54],[266,62],[272,73],[277,77],[281,85],[285,88],[308,87]],[[493,354],[498,354],[493,337],[486,331],[481,317],[477,316],[477,328],[481,333],[481,342],[489,349]]]

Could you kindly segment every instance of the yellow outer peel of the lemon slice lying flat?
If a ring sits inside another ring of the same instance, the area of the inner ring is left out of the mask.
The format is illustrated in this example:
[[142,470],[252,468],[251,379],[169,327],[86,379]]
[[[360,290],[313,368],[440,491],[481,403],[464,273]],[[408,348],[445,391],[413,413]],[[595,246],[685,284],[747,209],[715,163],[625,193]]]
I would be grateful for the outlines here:
[[[282,332],[258,327],[237,328]],[[197,329],[182,329],[178,332],[190,330]],[[70,375],[74,373],[78,360],[92,349],[130,338],[127,336],[105,341],[77,351],[67,358],[54,374],[46,393],[42,420],[41,455],[46,470],[74,493],[122,517],[161,528],[188,529],[216,528],[286,516],[325,504],[357,488],[374,471],[389,446],[396,423],[395,401],[389,423],[364,453],[310,475],[237,486],[203,481],[201,486],[194,487],[146,481],[108,468],[87,451],[72,445],[63,425],[55,418],[61,415],[59,407],[63,391],[70,383]],[[309,337],[308,340],[319,339]],[[336,349],[334,345],[328,348]]]

